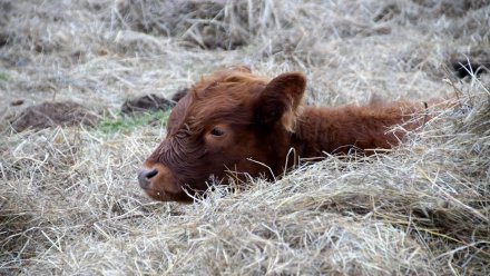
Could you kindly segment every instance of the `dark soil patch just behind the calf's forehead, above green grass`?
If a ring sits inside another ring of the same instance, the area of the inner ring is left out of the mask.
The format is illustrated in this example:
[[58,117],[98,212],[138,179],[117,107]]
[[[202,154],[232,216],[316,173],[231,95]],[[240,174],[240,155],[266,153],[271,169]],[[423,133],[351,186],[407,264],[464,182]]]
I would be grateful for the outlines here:
[[121,112],[126,115],[168,110],[175,106],[175,101],[159,97],[155,93],[146,95],[136,99],[126,100]]

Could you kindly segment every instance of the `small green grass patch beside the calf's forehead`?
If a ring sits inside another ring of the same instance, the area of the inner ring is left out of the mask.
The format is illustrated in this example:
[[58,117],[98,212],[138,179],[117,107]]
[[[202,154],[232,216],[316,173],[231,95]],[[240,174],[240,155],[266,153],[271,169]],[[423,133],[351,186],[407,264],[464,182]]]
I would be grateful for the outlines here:
[[148,125],[166,126],[170,110],[134,116],[117,116],[100,120],[95,129],[104,135],[127,134]]

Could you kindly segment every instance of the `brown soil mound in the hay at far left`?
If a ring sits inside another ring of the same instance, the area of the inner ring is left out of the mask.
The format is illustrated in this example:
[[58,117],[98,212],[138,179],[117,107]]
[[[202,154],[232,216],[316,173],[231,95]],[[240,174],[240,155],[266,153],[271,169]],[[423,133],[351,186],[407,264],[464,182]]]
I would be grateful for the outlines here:
[[43,102],[26,108],[11,121],[12,128],[22,131],[28,128],[43,129],[57,126],[91,126],[97,116],[85,107],[72,102]]

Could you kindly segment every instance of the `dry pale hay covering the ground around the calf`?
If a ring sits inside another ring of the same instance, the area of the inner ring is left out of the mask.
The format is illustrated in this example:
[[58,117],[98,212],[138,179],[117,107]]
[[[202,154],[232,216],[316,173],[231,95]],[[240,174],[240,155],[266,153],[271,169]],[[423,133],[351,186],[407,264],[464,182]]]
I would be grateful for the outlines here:
[[[490,275],[490,76],[467,59],[490,61],[488,0],[0,0],[0,274]],[[234,65],[304,72],[308,105],[448,103],[386,155],[150,200],[168,111],[122,103]]]

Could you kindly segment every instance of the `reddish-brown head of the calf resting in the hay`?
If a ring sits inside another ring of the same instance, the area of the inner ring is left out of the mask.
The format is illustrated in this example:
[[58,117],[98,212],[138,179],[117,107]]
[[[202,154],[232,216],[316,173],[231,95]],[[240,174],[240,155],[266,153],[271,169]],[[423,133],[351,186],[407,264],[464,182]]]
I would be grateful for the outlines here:
[[281,174],[305,85],[297,72],[267,81],[245,67],[203,78],[171,110],[140,187],[157,200],[190,201],[210,177]]

